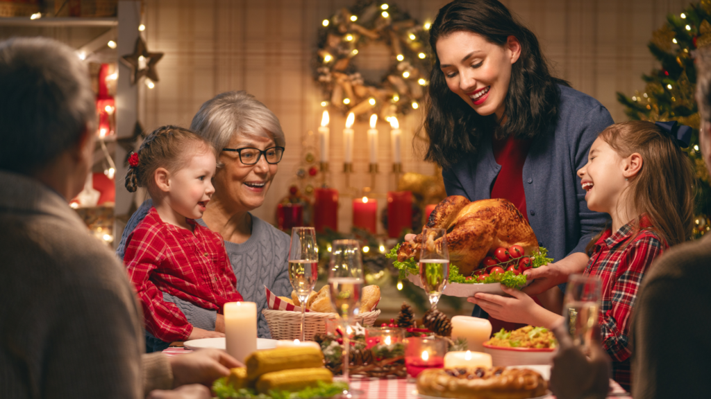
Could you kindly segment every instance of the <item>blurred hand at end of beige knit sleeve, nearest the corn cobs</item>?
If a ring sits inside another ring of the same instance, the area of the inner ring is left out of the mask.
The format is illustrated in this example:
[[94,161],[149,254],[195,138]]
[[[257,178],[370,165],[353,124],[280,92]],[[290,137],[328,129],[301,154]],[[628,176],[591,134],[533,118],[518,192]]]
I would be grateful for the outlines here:
[[229,376],[230,368],[245,366],[218,349],[201,349],[168,360],[173,370],[173,387],[195,383],[211,386],[216,379]]

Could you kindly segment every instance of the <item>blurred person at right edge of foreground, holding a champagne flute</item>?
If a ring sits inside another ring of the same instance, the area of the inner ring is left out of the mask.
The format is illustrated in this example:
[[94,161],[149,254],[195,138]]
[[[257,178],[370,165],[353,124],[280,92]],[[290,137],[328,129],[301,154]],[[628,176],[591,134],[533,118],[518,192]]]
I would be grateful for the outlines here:
[[[711,49],[697,50],[696,100],[701,116],[699,147],[711,173]],[[631,341],[635,399],[705,398],[711,359],[711,234],[673,246],[649,268],[638,291]],[[559,399],[606,394],[600,376],[606,359],[570,345],[555,329],[561,350],[553,360],[551,388]],[[594,375],[595,378],[588,378]]]

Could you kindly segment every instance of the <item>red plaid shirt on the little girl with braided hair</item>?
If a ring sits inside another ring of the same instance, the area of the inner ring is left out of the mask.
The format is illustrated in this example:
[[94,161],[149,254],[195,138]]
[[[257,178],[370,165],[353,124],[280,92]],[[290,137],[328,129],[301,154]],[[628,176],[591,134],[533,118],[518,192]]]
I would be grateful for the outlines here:
[[175,304],[163,299],[164,292],[220,313],[225,302],[242,300],[223,238],[187,221],[194,232],[164,223],[151,208],[129,235],[124,255],[146,329],[166,342],[185,341],[193,326]]

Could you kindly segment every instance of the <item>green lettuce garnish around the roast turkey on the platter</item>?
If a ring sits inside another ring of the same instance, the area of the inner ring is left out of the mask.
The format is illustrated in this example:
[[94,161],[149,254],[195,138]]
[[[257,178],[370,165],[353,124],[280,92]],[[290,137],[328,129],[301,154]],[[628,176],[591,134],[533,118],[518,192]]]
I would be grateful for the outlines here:
[[[397,250],[400,249],[400,244],[397,244],[394,248],[390,250],[385,256],[388,259],[392,259],[392,266],[395,266],[397,270],[400,271],[400,280],[407,279],[407,275],[419,275],[419,265],[415,258],[409,258],[405,261],[397,260]],[[540,247],[536,253],[528,256],[530,258],[531,268],[539,268],[540,266],[547,265],[553,261],[552,258],[547,258],[548,250],[546,248]],[[502,263],[502,267],[506,262]],[[471,278],[471,277],[474,278]],[[461,283],[461,284],[491,284],[491,283],[501,283],[509,288],[521,288],[526,283],[526,276],[523,274],[516,274],[513,271],[507,270],[503,273],[491,273],[483,280],[476,278],[476,275],[472,273],[469,275],[461,275],[459,273],[459,267],[454,264],[449,265],[449,282],[450,283]]]

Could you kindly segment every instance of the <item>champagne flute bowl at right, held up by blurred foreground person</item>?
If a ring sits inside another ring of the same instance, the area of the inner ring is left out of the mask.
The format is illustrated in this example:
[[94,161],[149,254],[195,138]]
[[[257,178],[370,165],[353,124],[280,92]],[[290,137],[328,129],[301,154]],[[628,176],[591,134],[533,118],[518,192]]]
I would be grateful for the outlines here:
[[599,322],[602,280],[594,275],[572,274],[565,288],[563,317],[573,343],[590,348],[594,327]]

